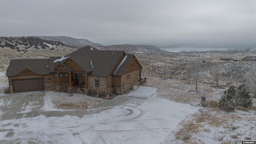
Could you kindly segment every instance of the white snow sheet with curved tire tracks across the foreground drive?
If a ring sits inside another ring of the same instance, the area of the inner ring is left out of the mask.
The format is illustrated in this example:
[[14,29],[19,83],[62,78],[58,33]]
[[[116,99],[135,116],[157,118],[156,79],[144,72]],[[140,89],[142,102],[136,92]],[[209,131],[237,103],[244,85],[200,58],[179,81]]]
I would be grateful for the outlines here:
[[[0,143],[160,144],[169,139],[172,130],[187,115],[198,112],[200,107],[156,98],[157,90],[140,86],[118,96],[130,97],[124,104],[82,118],[68,114],[26,117],[24,113],[17,119],[1,120]],[[47,98],[44,108],[51,107],[52,97]],[[0,104],[1,109],[7,106]]]

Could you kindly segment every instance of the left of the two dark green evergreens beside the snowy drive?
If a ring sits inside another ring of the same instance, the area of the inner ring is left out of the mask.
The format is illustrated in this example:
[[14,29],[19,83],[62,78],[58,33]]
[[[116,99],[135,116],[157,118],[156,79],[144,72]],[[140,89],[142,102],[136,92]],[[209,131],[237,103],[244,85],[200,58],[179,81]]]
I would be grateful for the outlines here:
[[236,89],[234,86],[229,86],[228,90],[224,91],[224,94],[218,102],[219,108],[225,110],[226,112],[234,111],[234,101],[233,97],[235,96]]

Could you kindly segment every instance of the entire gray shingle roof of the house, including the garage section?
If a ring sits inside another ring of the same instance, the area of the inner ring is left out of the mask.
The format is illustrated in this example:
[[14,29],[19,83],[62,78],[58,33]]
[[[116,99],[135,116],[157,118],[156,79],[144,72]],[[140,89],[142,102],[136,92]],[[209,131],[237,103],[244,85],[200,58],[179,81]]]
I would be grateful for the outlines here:
[[[109,75],[112,75],[111,72],[118,63],[118,60],[121,59],[122,61],[124,58],[122,57],[123,54],[125,54],[124,51],[97,50],[91,46],[85,46],[66,56],[69,56],[71,60],[76,62],[76,64],[78,64],[85,72],[88,72],[89,75],[108,77]],[[132,56],[134,56],[133,54],[125,55],[127,58],[116,71],[116,75],[123,74]],[[32,70],[36,74],[50,74],[50,72],[55,72],[55,68],[60,64],[63,64],[63,66],[71,72],[72,69],[64,64],[68,59],[54,63],[54,60],[60,58],[61,57],[11,60],[9,67],[7,68],[6,76],[17,76],[26,69]]]

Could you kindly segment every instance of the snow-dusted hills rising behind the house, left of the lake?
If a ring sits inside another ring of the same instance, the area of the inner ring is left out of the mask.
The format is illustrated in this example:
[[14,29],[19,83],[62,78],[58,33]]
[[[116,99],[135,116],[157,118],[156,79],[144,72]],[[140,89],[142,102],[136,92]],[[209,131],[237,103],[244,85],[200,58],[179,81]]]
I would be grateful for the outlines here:
[[[36,37],[0,37],[0,47],[11,48],[16,51],[24,52],[41,52],[36,51],[43,49],[50,50],[75,50],[90,45],[98,50],[123,50],[129,54],[170,54],[170,52],[161,50],[160,48],[152,45],[113,45],[102,46],[88,40],[75,39],[65,36],[42,36],[44,39]],[[67,41],[65,41],[65,39]],[[61,40],[61,42],[57,41]],[[68,45],[69,44],[69,45]]]

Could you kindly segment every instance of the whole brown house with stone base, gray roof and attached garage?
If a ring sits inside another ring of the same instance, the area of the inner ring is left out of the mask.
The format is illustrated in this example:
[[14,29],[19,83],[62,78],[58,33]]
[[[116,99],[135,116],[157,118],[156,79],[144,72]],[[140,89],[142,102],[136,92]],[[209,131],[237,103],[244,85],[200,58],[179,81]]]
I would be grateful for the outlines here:
[[84,94],[122,94],[141,82],[141,70],[134,54],[85,46],[63,57],[10,60],[6,76],[10,92],[73,93],[74,86],[82,85]]

